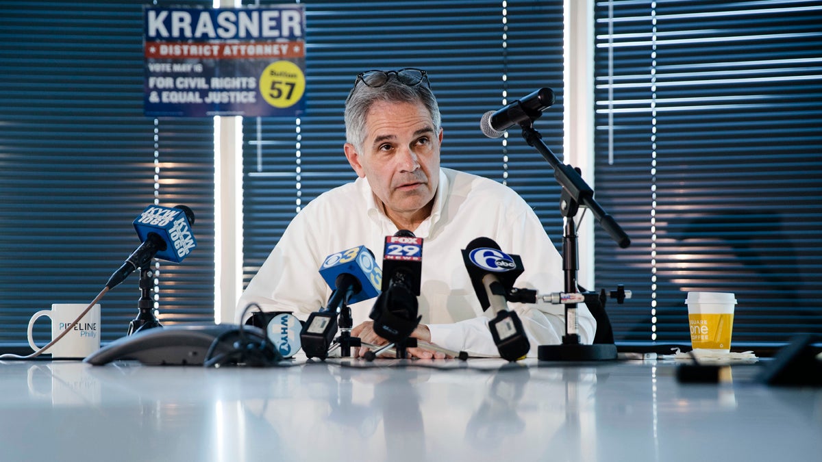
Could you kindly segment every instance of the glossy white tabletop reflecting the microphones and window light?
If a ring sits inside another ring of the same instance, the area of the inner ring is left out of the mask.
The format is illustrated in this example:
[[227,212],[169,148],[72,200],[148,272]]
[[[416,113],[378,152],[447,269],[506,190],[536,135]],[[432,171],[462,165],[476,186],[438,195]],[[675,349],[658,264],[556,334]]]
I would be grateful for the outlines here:
[[822,389],[761,363],[298,363],[0,363],[0,460],[822,460]]

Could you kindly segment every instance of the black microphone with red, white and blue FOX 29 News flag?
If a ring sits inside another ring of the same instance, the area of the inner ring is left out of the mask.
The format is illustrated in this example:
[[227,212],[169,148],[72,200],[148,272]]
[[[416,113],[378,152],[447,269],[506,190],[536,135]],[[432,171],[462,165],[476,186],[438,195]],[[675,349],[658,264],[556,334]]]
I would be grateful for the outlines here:
[[423,316],[418,316],[423,238],[407,229],[386,236],[382,257],[382,293],[371,313],[376,335],[398,344],[407,339]]

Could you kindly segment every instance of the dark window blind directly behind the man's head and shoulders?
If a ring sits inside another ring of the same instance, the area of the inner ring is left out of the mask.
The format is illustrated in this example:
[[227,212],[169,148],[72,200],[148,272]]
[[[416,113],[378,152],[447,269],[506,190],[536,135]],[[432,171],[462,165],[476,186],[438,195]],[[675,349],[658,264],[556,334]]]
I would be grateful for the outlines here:
[[561,244],[559,187],[547,162],[518,131],[490,140],[479,130],[483,113],[549,87],[557,104],[535,127],[562,155],[561,1],[302,4],[306,113],[243,125],[245,284],[302,206],[356,178],[343,154],[344,102],[369,69],[425,69],[442,113],[441,165],[506,182]]

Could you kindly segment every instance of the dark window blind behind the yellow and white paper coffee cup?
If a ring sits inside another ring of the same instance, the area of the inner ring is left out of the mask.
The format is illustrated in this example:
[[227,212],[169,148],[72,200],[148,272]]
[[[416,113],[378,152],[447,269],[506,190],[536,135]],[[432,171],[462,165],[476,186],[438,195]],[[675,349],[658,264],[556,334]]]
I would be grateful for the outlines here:
[[617,341],[690,343],[688,291],[737,295],[733,344],[822,333],[822,6],[596,2],[596,236]]

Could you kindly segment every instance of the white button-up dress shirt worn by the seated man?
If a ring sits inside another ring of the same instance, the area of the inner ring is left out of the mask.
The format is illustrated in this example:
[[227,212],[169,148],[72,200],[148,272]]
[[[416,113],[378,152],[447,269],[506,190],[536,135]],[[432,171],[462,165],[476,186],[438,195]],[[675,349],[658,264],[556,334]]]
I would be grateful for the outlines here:
[[[528,204],[512,189],[487,178],[440,169],[432,214],[412,229],[423,238],[423,270],[419,295],[422,324],[433,344],[478,356],[499,356],[488,321],[474,293],[461,249],[478,237],[492,238],[502,252],[519,255],[524,272],[515,287],[538,293],[563,291],[561,256]],[[324,307],[331,289],[319,268],[326,256],[365,245],[382,261],[386,236],[396,225],[377,206],[367,179],[336,187],[311,201],[294,217],[270,256],[248,284],[238,303],[239,316],[248,303],[264,311],[294,312],[305,320]],[[350,305],[353,325],[369,321],[376,299]],[[529,357],[542,344],[560,344],[566,333],[565,307],[549,303],[510,303],[519,314],[531,343]],[[578,306],[580,340],[593,341],[596,321],[584,304]]]

